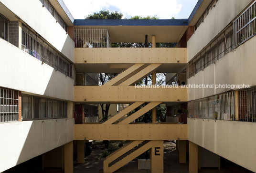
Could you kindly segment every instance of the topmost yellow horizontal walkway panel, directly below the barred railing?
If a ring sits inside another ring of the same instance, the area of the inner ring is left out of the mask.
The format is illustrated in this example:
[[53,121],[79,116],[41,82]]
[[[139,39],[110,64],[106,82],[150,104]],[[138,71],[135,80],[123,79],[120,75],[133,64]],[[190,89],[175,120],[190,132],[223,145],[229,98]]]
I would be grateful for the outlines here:
[[187,63],[187,48],[75,48],[75,63]]

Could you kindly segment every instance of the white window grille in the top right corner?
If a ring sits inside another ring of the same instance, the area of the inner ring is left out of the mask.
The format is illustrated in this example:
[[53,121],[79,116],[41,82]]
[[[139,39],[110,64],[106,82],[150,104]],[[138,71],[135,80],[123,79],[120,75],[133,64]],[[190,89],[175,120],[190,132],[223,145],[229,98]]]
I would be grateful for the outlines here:
[[256,34],[256,1],[234,21],[234,44],[239,46]]

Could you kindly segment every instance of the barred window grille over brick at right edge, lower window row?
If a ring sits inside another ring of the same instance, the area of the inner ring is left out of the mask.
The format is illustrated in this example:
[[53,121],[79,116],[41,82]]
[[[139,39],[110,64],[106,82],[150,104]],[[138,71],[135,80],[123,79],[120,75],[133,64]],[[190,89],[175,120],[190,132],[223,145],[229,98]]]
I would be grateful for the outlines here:
[[238,118],[256,122],[256,87],[238,91]]

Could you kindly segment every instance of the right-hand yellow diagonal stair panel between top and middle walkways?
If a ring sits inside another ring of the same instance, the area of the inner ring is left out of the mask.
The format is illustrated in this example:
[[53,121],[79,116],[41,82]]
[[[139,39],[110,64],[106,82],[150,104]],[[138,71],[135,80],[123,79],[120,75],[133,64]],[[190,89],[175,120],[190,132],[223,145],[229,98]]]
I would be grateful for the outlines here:
[[120,86],[129,86],[137,83],[139,80],[141,80],[144,77],[149,76],[153,71],[156,71],[158,67],[160,67],[162,64],[150,64],[148,67],[142,69],[134,76],[128,78],[126,81],[122,82]]

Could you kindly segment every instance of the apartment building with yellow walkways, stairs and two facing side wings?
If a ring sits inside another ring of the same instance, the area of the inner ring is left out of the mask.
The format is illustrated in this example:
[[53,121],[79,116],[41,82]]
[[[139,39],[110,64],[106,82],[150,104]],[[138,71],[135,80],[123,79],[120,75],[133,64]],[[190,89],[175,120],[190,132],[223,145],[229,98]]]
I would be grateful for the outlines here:
[[[164,140],[176,140],[190,173],[221,169],[220,157],[256,172],[255,15],[255,0],[198,0],[188,19],[156,20],[74,19],[62,0],[0,0],[0,172],[40,157],[42,169],[73,173],[88,140],[130,141],[104,173],[148,150],[151,172],[163,173]],[[118,75],[99,85],[99,73]],[[159,73],[175,87],[135,87]],[[99,104],[126,106],[98,122]]]

